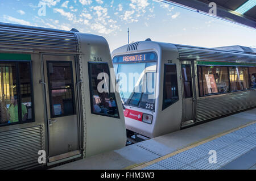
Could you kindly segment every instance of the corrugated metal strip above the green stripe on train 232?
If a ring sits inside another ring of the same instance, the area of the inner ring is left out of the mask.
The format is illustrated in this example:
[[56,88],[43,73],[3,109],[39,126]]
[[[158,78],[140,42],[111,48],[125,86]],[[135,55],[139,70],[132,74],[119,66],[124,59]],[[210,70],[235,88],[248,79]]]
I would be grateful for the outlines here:
[[255,56],[246,53],[236,53],[225,50],[216,50],[201,47],[175,45],[179,50],[180,59],[193,59],[197,61],[228,61],[255,63]]

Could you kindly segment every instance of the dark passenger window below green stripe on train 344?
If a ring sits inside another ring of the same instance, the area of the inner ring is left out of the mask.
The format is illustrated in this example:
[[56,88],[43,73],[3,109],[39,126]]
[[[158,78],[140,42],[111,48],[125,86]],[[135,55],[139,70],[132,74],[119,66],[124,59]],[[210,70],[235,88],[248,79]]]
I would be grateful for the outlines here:
[[0,63],[0,125],[34,120],[31,62]]

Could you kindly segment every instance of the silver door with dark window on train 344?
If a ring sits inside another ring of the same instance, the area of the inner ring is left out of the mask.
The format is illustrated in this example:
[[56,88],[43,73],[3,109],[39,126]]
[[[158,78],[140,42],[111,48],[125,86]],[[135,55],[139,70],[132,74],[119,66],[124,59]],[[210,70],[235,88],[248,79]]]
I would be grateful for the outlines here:
[[80,155],[74,56],[43,56],[48,124],[48,165]]

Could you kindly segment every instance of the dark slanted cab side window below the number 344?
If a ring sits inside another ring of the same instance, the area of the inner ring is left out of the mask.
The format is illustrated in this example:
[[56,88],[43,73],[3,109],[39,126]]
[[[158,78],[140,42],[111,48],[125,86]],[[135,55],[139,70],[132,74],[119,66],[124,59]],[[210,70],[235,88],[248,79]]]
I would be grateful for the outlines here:
[[[92,113],[119,118],[115,94],[114,92],[110,92],[108,63],[88,62],[88,72]],[[98,77],[100,77],[100,79],[98,79]]]

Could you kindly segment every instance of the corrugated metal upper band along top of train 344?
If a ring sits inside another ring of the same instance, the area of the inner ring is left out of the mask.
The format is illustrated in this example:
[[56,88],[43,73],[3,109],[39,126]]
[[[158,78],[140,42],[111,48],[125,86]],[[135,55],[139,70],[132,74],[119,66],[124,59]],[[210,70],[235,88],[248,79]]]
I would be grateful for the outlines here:
[[75,33],[0,23],[0,49],[78,52]]

